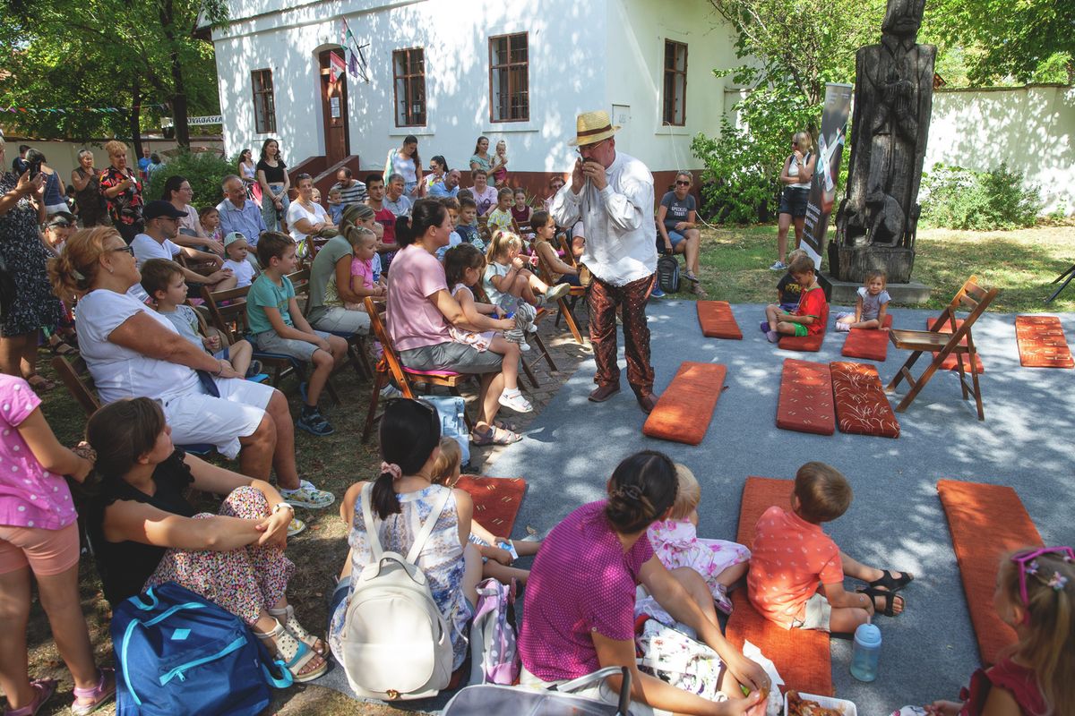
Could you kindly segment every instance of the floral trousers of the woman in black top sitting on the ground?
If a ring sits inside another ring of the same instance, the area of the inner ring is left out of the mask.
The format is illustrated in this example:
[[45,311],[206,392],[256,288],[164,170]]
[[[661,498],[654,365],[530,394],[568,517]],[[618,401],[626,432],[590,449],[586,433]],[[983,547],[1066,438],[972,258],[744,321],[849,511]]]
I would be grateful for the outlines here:
[[[244,485],[225,498],[220,514],[261,520],[271,512],[261,491]],[[212,516],[203,512],[196,514],[195,520]],[[278,547],[250,544],[231,552],[172,549],[164,553],[145,588],[175,582],[253,625],[262,609],[271,608],[284,597],[293,573],[295,562]]]

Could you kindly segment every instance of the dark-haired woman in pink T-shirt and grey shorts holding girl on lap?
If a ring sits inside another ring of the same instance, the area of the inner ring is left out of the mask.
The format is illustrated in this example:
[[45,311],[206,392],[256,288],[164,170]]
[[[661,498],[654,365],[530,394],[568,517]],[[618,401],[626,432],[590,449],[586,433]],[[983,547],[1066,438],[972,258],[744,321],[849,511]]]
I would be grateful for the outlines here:
[[[511,444],[522,436],[496,424],[500,394],[504,391],[502,356],[456,342],[448,325],[463,331],[485,331],[471,325],[448,292],[444,266],[436,249],[448,245],[452,219],[435,199],[420,199],[396,223],[396,242],[402,247],[392,260],[388,284],[388,335],[400,361],[416,370],[453,370],[482,376],[481,414],[471,439],[475,444]],[[512,319],[494,321],[496,331],[515,327]]]

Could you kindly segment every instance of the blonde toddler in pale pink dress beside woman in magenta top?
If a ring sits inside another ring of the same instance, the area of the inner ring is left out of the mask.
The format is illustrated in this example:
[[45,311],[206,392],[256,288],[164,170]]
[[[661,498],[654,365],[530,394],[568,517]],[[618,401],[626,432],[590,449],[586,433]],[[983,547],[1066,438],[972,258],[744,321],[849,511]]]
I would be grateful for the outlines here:
[[702,575],[713,593],[713,601],[726,614],[732,613],[728,589],[746,574],[750,551],[742,544],[698,537],[698,503],[702,488],[686,465],[676,464],[679,489],[668,520],[649,526],[654,553],[669,570],[690,567]]

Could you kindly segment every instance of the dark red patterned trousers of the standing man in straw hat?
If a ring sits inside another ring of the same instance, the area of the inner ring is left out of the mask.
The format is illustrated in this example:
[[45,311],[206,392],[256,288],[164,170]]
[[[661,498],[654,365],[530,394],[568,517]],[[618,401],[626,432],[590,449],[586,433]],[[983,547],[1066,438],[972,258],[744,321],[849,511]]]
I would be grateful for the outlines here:
[[654,390],[654,368],[649,365],[649,325],[646,324],[646,299],[656,275],[624,286],[605,283],[597,276],[586,292],[590,306],[590,342],[598,364],[593,382],[618,385],[616,362],[616,307],[624,318],[624,352],[627,354],[627,381],[636,393]]

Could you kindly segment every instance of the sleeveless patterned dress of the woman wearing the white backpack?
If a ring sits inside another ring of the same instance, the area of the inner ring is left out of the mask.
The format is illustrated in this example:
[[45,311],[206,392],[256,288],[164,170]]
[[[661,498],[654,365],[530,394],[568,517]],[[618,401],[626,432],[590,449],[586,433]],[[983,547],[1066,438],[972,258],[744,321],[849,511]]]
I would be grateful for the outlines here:
[[[381,546],[386,552],[399,552],[405,555],[414,544],[414,538],[421,529],[422,522],[429,516],[443,485],[430,485],[414,493],[397,495],[402,511],[379,520],[374,512],[374,524]],[[455,495],[448,496],[441,516],[436,520],[433,532],[418,555],[416,564],[433,593],[433,601],[440,609],[444,620],[452,631],[452,651],[454,654],[452,668],[458,669],[467,658],[468,623],[472,616],[471,605],[463,596],[463,546],[459,543],[459,517]],[[347,535],[347,544],[352,547],[352,567],[355,574],[362,571],[366,565],[373,560],[370,543],[366,536],[366,521],[362,518],[361,500],[355,500],[354,525]],[[329,617],[329,646],[336,661],[342,661],[343,648],[340,641],[343,632],[344,618],[347,615],[347,599],[340,602]]]

